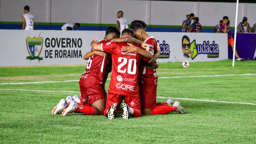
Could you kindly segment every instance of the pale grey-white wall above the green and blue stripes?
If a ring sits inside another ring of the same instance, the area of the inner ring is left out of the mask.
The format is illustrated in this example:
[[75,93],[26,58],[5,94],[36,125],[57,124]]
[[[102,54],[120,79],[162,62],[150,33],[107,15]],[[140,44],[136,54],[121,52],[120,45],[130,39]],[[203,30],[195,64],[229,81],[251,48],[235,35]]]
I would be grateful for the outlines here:
[[[194,13],[203,26],[215,26],[227,15],[234,26],[236,3],[135,1],[135,0],[1,0],[0,21],[21,22],[23,7],[30,6],[36,22],[116,24],[116,13],[124,12],[130,24],[139,19],[148,25],[181,25]],[[243,16],[256,23],[256,4],[239,3],[238,22]]]

